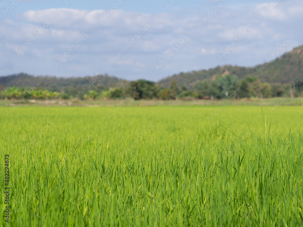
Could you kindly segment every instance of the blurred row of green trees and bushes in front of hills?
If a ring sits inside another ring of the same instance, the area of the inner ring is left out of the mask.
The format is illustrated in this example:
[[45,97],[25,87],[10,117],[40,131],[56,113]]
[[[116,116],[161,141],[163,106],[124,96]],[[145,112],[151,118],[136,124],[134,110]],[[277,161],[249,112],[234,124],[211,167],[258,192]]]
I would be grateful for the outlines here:
[[256,77],[246,77],[239,80],[235,75],[221,75],[215,79],[197,77],[195,81],[178,87],[175,80],[171,80],[170,87],[164,87],[153,81],[140,79],[131,81],[124,87],[105,87],[103,84],[91,86],[89,90],[82,92],[83,86],[65,87],[62,91],[40,89],[37,87],[4,87],[0,84],[0,99],[122,99],[125,96],[135,100],[158,99],[170,100],[182,98],[198,99],[222,99],[234,94],[237,90],[237,98],[244,97],[298,97],[303,96],[303,79],[298,78],[291,84],[261,82]]

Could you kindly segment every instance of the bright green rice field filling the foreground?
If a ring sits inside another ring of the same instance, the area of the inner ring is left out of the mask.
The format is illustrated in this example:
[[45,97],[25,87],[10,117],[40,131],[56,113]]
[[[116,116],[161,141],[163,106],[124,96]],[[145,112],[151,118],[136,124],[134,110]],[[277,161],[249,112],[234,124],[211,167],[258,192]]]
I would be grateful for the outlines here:
[[112,109],[0,107],[0,226],[303,226],[303,107]]

